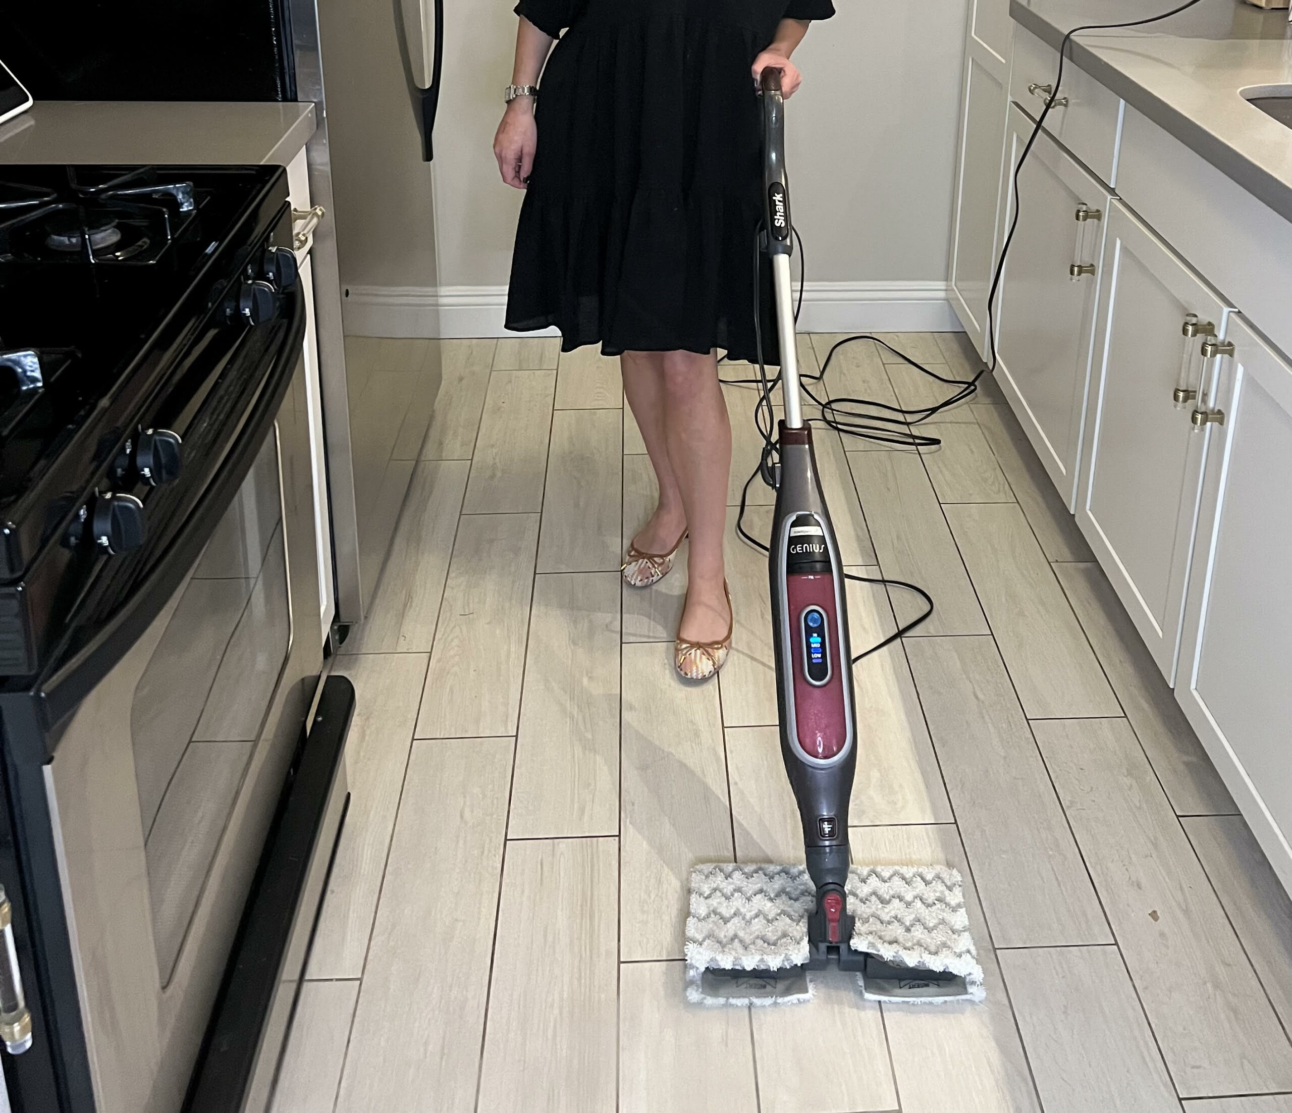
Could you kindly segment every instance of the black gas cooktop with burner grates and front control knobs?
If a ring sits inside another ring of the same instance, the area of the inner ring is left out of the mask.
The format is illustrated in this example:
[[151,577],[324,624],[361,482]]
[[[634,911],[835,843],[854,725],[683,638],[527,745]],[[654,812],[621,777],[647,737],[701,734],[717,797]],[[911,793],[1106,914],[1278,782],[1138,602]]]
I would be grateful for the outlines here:
[[0,676],[190,508],[187,425],[295,283],[278,167],[0,169]]

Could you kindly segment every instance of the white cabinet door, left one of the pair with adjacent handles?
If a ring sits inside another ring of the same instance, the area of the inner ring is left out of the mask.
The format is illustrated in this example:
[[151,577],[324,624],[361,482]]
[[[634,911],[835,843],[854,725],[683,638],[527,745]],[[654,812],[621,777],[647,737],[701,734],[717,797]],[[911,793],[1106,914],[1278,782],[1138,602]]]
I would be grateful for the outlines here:
[[1088,465],[1076,521],[1173,683],[1198,496],[1214,425],[1190,421],[1205,337],[1230,309],[1120,202],[1109,213],[1090,390]]

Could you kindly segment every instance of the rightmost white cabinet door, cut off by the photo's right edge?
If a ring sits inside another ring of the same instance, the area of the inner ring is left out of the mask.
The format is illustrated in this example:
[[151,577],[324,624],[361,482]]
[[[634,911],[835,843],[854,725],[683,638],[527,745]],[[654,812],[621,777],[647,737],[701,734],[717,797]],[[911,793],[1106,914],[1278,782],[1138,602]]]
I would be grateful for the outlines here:
[[1242,318],[1229,339],[1176,698],[1292,891],[1292,366]]

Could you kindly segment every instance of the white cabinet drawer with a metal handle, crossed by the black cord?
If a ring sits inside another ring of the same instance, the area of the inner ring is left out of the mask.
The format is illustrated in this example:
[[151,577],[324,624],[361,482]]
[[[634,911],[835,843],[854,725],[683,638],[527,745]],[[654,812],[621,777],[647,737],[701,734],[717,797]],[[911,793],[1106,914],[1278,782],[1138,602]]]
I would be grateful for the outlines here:
[[[1053,87],[1057,72],[1058,52],[1030,31],[1016,27],[1009,96],[1032,120],[1045,107],[1047,93],[1041,87]],[[1063,88],[1058,96],[1058,103],[1045,118],[1045,131],[1085,163],[1096,177],[1116,185],[1121,98],[1078,69],[1071,58],[1063,65]]]

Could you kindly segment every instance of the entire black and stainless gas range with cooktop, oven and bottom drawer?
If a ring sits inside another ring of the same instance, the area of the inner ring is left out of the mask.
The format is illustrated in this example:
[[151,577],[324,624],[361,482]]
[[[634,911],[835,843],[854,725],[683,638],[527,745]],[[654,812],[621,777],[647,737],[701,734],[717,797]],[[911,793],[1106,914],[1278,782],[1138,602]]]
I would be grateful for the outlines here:
[[353,708],[318,684],[304,330],[282,168],[0,169],[19,1113],[267,1100]]

